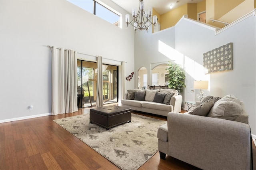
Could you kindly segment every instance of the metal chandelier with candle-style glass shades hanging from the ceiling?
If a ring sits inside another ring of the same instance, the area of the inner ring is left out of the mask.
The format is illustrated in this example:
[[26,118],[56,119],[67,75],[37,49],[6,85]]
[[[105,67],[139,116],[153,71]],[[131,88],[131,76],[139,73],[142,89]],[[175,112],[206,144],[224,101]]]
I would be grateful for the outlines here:
[[[125,15],[125,21],[128,26],[128,24],[131,24],[134,27],[135,33],[136,30],[147,30],[148,28],[153,24],[156,26],[157,22],[157,16],[153,16],[153,22],[151,22],[151,16],[152,16],[152,9],[149,8],[148,10],[144,10],[144,2],[143,0],[140,0],[140,8],[138,13],[136,14],[136,8],[132,8],[132,17],[133,20],[130,22],[130,15]],[[134,24],[132,24],[134,22]]]

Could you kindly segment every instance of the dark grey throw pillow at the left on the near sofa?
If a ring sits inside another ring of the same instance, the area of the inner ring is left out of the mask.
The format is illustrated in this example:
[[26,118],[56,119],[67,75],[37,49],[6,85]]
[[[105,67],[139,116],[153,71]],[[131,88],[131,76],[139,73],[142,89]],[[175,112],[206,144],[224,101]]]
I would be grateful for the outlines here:
[[189,114],[191,115],[198,115],[198,116],[207,116],[209,111],[212,109],[214,105],[214,99],[205,101],[198,105],[193,111],[190,111]]

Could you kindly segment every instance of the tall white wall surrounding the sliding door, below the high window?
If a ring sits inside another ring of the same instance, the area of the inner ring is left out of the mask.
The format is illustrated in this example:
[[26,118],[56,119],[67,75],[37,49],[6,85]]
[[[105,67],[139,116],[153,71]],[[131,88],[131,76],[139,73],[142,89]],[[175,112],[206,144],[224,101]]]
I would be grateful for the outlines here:
[[[124,20],[128,12],[104,2]],[[134,71],[134,30],[126,23],[118,28],[66,0],[1,0],[0,122],[51,112],[52,53],[46,45],[126,61],[126,73]],[[121,83],[119,88],[121,98]]]

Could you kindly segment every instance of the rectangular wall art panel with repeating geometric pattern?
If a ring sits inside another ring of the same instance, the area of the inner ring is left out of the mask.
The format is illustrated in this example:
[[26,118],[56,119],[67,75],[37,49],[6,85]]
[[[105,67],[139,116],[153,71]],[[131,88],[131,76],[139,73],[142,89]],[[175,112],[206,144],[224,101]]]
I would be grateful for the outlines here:
[[204,53],[205,74],[232,70],[232,43]]

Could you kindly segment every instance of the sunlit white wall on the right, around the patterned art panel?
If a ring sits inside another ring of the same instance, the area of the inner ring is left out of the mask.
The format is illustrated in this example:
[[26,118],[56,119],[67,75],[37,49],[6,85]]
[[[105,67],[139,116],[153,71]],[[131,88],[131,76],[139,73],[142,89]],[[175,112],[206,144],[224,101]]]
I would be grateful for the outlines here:
[[[146,41],[144,40],[146,37]],[[165,56],[153,47],[159,40],[166,44]],[[200,80],[202,73],[203,53],[214,48],[233,43],[233,70],[212,73],[209,76],[210,89],[208,95],[223,97],[228,94],[236,95],[244,101],[249,115],[249,125],[252,134],[256,134],[256,19],[251,15],[227,30],[215,35],[215,31],[189,19],[182,19],[175,26],[162,30],[152,37],[145,32],[135,37],[135,70],[150,63],[163,62],[172,56],[172,48],[184,55],[185,63],[191,61],[194,65],[194,79]],[[150,47],[148,52],[148,47]],[[168,49],[169,48],[169,49]],[[142,50],[140,50],[142,49]],[[169,51],[169,53],[168,53]],[[147,59],[140,57],[143,53]],[[176,61],[181,58],[177,55]],[[175,56],[173,56],[175,58]],[[182,60],[181,60],[182,61]],[[149,74],[149,72],[148,72]],[[196,93],[197,94],[197,91]],[[184,96],[183,96],[184,97]],[[184,99],[186,101],[186,99]]]

